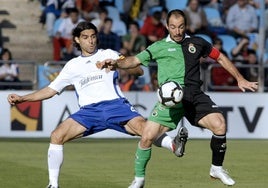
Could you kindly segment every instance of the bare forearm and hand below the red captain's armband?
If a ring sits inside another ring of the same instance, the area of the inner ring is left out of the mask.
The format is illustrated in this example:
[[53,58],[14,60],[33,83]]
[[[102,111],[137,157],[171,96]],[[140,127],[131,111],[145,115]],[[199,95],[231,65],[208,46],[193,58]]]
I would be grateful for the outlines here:
[[238,87],[243,92],[245,92],[246,90],[250,90],[253,92],[258,90],[258,82],[247,81],[224,54],[221,53],[217,61],[236,79]]

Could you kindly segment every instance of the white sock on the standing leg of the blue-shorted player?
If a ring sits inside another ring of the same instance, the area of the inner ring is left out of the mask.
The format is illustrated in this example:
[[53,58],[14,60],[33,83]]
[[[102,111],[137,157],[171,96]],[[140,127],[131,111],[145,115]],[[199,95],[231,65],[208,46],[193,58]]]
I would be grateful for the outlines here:
[[63,162],[63,145],[50,144],[48,148],[49,184],[58,187],[60,167]]

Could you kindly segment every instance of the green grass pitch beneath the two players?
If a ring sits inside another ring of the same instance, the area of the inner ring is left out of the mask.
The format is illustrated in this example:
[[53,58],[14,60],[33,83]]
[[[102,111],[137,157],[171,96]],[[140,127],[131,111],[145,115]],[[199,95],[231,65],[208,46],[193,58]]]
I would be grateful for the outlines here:
[[[134,176],[138,139],[79,139],[64,146],[61,188],[126,188]],[[48,139],[0,139],[0,187],[45,188]],[[228,140],[224,167],[235,188],[266,188],[268,140]],[[153,147],[147,188],[221,188],[209,177],[209,140],[189,139],[186,154],[175,157]]]

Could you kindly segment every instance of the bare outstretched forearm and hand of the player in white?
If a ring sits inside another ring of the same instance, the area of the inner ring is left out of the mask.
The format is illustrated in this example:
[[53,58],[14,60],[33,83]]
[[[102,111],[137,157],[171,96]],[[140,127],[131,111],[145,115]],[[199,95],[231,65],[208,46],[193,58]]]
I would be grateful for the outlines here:
[[15,104],[19,104],[19,103],[27,102],[27,101],[40,101],[40,100],[48,99],[48,98],[53,97],[56,94],[57,94],[57,91],[49,87],[45,87],[41,90],[35,91],[27,95],[23,95],[23,96],[20,96],[17,94],[9,94],[7,97],[7,100],[9,104],[15,105]]

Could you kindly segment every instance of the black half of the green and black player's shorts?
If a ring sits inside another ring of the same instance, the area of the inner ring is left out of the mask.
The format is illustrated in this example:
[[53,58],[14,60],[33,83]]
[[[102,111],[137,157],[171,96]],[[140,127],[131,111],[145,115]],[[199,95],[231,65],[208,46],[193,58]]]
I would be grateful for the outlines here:
[[210,113],[222,113],[211,98],[200,90],[191,93],[191,97],[184,98],[182,104],[185,110],[184,116],[195,126],[199,126],[198,121]]

